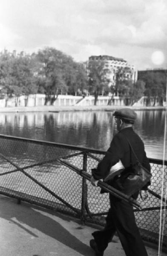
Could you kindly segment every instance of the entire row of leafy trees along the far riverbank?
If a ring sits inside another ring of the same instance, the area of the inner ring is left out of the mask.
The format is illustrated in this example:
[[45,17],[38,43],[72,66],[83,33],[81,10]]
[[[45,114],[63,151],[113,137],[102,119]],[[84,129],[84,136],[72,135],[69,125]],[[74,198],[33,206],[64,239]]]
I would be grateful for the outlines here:
[[78,63],[65,53],[46,47],[31,56],[17,56],[10,53],[0,55],[0,98],[6,100],[15,97],[15,105],[21,95],[26,96],[25,106],[30,94],[44,93],[45,105],[53,105],[59,94],[95,96],[95,105],[99,95],[114,96],[126,100],[132,105],[141,96],[153,97],[159,104],[165,98],[166,77],[153,74],[144,77],[143,81],[133,82],[127,79],[128,67],[119,68],[115,72],[115,84],[110,84],[107,74],[110,70],[105,61],[89,61],[88,65]]

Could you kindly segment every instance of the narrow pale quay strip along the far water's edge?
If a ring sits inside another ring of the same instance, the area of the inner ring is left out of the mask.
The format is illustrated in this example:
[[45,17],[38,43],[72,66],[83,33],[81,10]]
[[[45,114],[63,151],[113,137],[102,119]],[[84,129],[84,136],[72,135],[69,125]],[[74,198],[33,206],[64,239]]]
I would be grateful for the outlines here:
[[60,111],[114,111],[120,108],[132,108],[133,110],[165,110],[165,107],[132,107],[132,106],[37,106],[37,107],[11,107],[0,108],[1,113],[6,112],[60,112]]

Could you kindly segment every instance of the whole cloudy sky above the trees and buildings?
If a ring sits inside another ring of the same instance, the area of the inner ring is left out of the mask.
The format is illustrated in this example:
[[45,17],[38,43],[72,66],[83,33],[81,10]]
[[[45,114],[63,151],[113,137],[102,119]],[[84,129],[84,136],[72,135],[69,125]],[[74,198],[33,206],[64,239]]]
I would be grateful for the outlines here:
[[167,68],[167,0],[0,0],[0,51],[44,47]]

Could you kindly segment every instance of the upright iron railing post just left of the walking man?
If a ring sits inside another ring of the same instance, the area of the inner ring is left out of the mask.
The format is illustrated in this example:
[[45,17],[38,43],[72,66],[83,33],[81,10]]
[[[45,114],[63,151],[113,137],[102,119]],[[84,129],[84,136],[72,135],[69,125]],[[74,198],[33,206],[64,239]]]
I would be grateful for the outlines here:
[[[83,171],[87,171],[87,154],[83,152]],[[85,222],[85,212],[86,212],[86,201],[87,201],[87,184],[86,178],[82,178],[82,202],[81,202],[81,223]]]

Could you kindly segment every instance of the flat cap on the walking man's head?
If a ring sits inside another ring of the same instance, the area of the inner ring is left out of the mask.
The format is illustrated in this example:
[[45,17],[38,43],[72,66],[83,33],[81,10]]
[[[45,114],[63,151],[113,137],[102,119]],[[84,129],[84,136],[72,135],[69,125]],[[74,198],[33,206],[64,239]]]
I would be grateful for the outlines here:
[[123,118],[129,121],[135,121],[137,114],[130,108],[122,108],[113,113],[113,116]]

